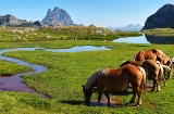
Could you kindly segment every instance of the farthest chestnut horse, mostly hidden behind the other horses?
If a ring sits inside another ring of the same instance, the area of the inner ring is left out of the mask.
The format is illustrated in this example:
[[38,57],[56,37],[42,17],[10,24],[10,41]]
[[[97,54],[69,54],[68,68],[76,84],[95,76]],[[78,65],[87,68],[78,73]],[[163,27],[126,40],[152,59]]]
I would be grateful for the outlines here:
[[150,49],[147,51],[139,51],[134,56],[134,61],[142,61],[142,60],[153,60],[153,61],[160,61],[161,58],[165,55],[161,50],[158,49]]

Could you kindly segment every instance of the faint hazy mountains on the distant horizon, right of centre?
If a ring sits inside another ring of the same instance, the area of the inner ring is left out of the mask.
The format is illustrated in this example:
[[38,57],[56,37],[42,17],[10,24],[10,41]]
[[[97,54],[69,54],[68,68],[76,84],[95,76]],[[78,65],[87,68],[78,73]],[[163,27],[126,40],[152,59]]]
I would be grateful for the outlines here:
[[111,30],[124,30],[124,31],[139,31],[142,29],[142,26],[139,25],[139,24],[129,24],[125,27],[108,27],[108,29],[111,29]]

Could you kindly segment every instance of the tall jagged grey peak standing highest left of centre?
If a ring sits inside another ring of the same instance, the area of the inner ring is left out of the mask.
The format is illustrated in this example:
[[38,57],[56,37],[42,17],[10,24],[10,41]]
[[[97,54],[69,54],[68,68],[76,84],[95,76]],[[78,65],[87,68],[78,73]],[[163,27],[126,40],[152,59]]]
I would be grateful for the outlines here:
[[41,21],[45,25],[73,25],[73,21],[69,13],[58,7],[47,12],[46,17]]

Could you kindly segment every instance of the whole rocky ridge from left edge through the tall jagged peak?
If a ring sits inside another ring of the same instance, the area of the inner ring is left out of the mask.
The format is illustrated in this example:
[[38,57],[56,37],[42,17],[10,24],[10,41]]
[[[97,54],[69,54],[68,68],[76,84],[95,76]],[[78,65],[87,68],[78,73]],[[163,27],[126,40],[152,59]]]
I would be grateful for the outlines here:
[[42,26],[42,25],[74,25],[69,13],[58,7],[47,12],[46,17],[40,22],[27,22],[26,20],[20,20],[11,14],[0,15],[0,26]]

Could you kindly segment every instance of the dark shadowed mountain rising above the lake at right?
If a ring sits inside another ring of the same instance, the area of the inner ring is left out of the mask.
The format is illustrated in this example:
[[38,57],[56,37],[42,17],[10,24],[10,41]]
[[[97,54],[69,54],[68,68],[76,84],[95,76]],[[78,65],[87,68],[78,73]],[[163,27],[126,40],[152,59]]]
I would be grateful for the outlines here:
[[174,28],[174,5],[170,3],[163,5],[154,14],[150,15],[142,29],[166,27]]

